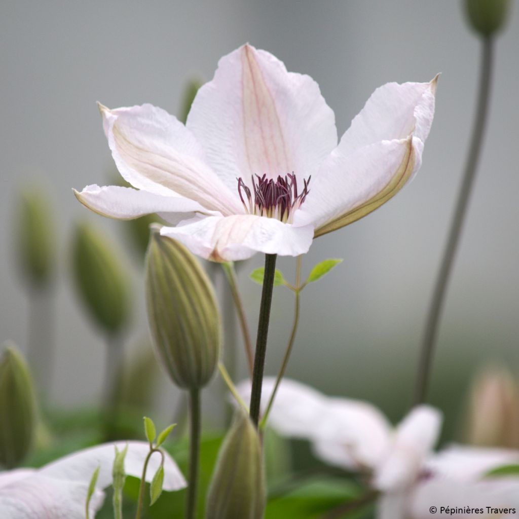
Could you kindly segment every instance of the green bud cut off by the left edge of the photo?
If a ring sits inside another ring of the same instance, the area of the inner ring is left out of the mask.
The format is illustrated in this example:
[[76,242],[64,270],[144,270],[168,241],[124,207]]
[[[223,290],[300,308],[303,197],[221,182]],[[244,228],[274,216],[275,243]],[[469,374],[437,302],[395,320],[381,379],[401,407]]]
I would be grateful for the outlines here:
[[7,344],[0,358],[0,466],[16,467],[33,443],[36,399],[29,368]]

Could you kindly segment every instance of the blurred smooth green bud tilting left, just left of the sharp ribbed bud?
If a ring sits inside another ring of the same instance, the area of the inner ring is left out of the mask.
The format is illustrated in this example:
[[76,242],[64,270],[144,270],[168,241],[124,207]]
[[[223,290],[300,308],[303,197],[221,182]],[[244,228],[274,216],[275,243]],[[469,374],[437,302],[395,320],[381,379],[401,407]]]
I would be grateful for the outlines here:
[[76,226],[73,268],[79,295],[108,333],[120,331],[130,310],[129,276],[112,244],[89,223]]

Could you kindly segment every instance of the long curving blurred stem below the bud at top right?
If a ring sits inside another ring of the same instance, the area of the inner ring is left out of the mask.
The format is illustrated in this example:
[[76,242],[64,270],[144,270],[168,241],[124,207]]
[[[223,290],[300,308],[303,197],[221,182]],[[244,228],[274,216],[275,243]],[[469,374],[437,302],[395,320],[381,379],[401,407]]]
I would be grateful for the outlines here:
[[450,226],[449,236],[443,260],[441,263],[438,278],[434,286],[434,292],[429,306],[427,323],[425,326],[424,337],[422,340],[420,360],[418,365],[418,376],[416,380],[415,404],[424,402],[429,384],[431,372],[432,358],[434,353],[434,345],[436,335],[438,334],[438,324],[445,302],[445,293],[452,271],[454,258],[458,248],[459,238],[467,205],[470,198],[472,186],[474,183],[475,172],[479,162],[483,135],[485,131],[488,102],[490,98],[490,83],[493,69],[493,40],[490,37],[483,39],[483,52],[481,58],[481,75],[479,97],[477,101],[476,120],[474,122],[474,130],[467,159],[463,180],[456,203],[456,209]]

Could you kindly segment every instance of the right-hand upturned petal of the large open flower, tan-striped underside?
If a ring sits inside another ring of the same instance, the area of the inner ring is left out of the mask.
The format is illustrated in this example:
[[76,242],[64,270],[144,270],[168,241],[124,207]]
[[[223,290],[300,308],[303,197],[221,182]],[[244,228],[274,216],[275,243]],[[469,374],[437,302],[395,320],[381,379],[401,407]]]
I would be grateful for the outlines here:
[[294,217],[316,237],[359,220],[387,202],[421,166],[434,113],[436,81],[383,87],[323,162]]

